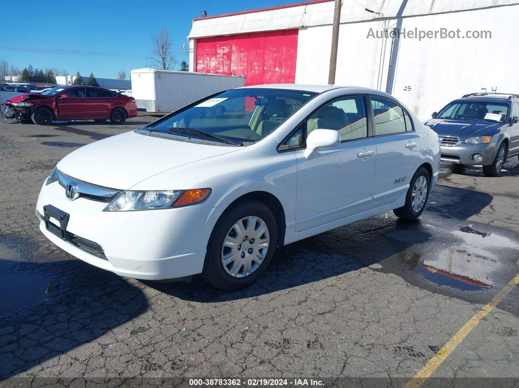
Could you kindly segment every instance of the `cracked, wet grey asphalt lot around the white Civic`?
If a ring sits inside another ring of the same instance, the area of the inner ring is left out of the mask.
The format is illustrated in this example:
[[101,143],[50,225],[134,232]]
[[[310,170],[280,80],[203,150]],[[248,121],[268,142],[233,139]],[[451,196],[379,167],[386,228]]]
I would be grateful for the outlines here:
[[[235,292],[120,278],[54,247],[34,214],[52,167],[154,119],[0,124],[0,385],[401,386],[519,272],[517,158],[500,178],[442,164],[419,221],[388,212],[293,243]],[[425,385],[518,386],[518,300],[516,287]]]

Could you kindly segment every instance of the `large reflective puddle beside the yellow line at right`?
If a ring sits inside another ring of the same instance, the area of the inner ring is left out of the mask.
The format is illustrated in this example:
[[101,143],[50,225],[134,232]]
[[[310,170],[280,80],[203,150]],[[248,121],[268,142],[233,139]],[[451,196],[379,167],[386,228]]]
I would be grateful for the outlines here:
[[517,271],[514,262],[519,243],[482,226],[468,225],[450,232],[438,229],[434,238],[413,229],[394,229],[385,235],[409,246],[372,268],[431,291],[449,288],[445,291],[449,295],[453,290],[457,295],[462,295],[459,291],[476,292],[474,295],[497,292],[510,280],[511,272],[513,276]]

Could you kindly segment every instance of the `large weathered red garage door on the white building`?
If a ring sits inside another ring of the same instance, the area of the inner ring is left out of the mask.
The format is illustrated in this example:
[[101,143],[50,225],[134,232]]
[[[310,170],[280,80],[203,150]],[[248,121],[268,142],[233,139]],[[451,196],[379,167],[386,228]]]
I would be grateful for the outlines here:
[[196,71],[245,76],[245,85],[293,83],[297,28],[197,39]]

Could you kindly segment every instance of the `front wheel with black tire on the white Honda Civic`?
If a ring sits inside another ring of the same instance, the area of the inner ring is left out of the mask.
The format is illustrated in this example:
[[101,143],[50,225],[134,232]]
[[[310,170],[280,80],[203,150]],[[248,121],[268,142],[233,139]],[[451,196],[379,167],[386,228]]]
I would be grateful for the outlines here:
[[[237,226],[240,223],[241,231]],[[234,205],[214,226],[202,276],[211,285],[225,291],[254,283],[270,263],[277,238],[276,220],[266,205],[253,200]]]

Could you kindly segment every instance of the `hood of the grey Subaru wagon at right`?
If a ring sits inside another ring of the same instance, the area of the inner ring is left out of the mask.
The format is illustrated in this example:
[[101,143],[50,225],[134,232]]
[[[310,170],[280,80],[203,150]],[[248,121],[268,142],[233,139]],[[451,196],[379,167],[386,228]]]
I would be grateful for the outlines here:
[[472,136],[492,136],[500,131],[503,123],[473,120],[430,119],[425,123],[440,136],[454,136],[465,140]]

